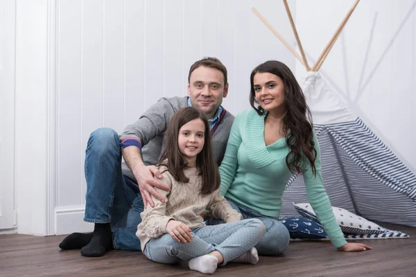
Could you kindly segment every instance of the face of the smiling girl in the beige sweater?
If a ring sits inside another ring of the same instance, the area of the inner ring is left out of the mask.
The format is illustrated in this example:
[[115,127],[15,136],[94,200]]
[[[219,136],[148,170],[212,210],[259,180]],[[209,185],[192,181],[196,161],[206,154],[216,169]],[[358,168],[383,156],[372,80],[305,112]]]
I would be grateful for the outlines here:
[[187,159],[188,166],[196,166],[196,156],[205,144],[205,125],[199,118],[182,125],[177,134],[177,147]]

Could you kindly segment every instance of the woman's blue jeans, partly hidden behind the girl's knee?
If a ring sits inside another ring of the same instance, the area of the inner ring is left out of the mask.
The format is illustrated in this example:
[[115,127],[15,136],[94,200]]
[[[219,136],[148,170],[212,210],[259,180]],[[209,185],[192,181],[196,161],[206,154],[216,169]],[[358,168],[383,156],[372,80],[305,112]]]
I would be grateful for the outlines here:
[[[251,208],[245,207],[241,204],[236,204],[230,199],[227,199],[227,201],[232,208],[234,208],[234,210],[243,215],[241,220],[257,218],[263,222],[264,226],[266,226],[266,233],[263,235],[260,242],[255,246],[259,255],[277,256],[282,254],[288,248],[289,240],[291,240],[289,231],[286,226],[284,226],[284,224],[277,219],[277,217],[267,217],[266,215],[261,215],[259,212],[252,210]],[[216,225],[222,224],[223,222],[223,220],[211,218],[207,220],[206,224]]]

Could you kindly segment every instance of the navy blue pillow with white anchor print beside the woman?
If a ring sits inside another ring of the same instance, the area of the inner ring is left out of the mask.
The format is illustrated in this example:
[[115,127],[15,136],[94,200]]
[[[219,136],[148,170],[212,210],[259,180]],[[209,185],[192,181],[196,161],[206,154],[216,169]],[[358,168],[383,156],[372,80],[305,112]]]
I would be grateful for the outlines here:
[[284,217],[281,223],[286,226],[291,238],[320,240],[328,238],[322,225],[306,217]]

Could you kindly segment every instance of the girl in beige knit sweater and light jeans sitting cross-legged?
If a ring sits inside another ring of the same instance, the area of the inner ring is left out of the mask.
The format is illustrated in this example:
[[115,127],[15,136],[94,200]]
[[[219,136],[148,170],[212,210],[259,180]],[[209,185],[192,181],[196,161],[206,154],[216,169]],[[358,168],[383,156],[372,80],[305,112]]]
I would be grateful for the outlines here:
[[[154,198],[155,207],[148,205],[141,213],[136,235],[144,255],[166,264],[189,260],[190,269],[205,274],[230,261],[255,265],[259,257],[253,247],[265,226],[256,219],[240,221],[241,215],[220,196],[205,116],[193,107],[180,109],[171,118],[165,139],[158,168],[171,191],[156,188],[166,201]],[[207,208],[227,224],[204,226],[200,215]]]

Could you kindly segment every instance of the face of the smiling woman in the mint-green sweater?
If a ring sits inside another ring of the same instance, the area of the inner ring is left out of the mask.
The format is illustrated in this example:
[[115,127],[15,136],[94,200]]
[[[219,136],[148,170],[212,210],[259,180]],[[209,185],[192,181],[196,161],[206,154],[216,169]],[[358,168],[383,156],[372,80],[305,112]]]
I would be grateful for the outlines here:
[[284,83],[272,73],[256,73],[253,78],[256,100],[265,111],[284,111]]

